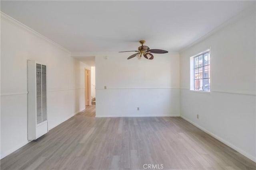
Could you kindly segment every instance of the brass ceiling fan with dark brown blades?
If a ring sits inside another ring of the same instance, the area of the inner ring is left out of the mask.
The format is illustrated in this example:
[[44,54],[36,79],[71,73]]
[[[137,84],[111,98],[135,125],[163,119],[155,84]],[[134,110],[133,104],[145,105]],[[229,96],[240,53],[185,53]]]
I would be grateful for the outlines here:
[[139,58],[140,59],[142,57],[142,55],[149,60],[154,59],[154,56],[151,53],[156,53],[156,54],[164,54],[164,53],[168,53],[168,51],[165,50],[160,50],[160,49],[150,49],[148,46],[144,46],[143,44],[146,41],[142,40],[140,41],[141,46],[138,47],[138,51],[120,51],[119,53],[123,53],[123,52],[138,52],[135,53],[133,55],[131,55],[130,57],[128,57],[129,59],[132,59],[133,57],[136,57],[138,54],[140,54]]

